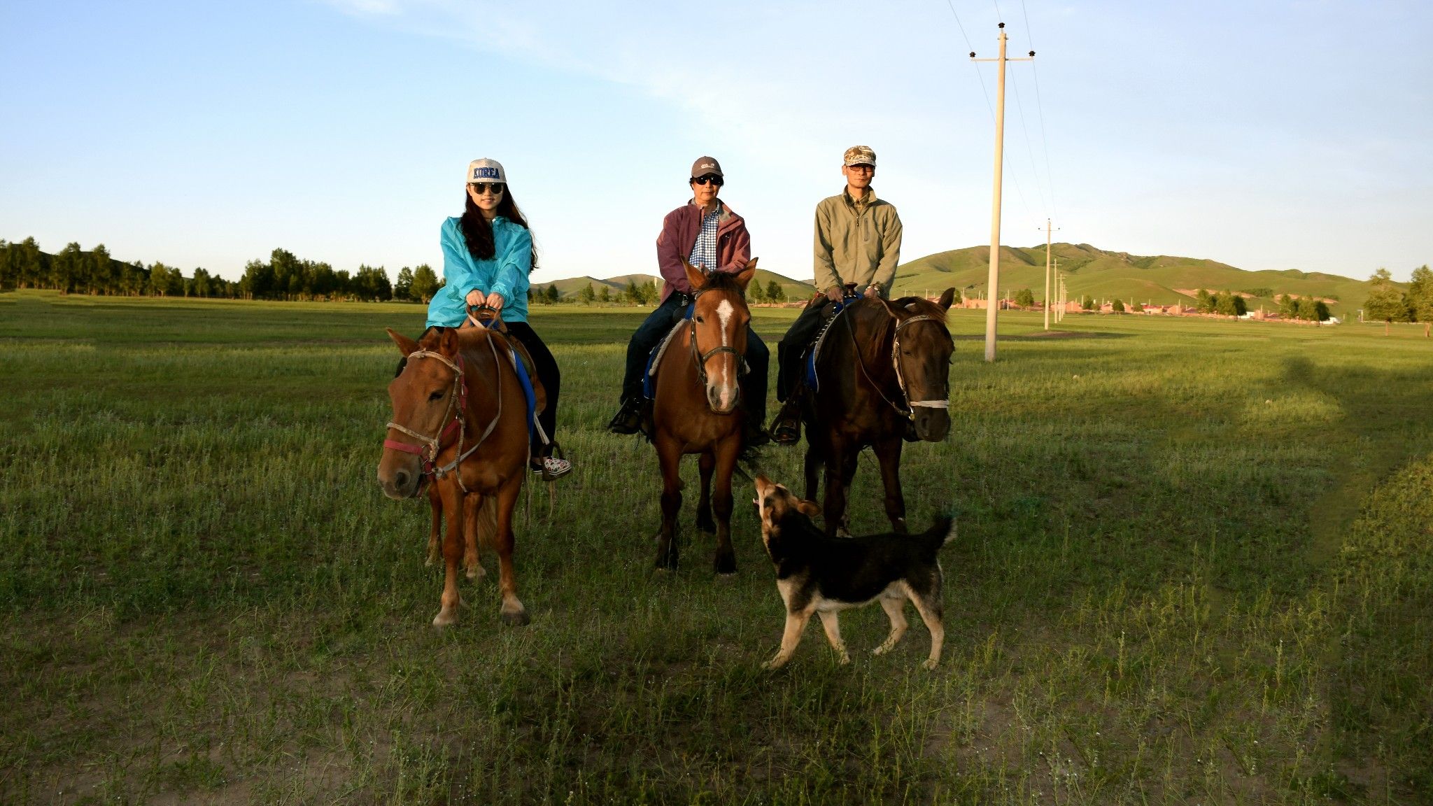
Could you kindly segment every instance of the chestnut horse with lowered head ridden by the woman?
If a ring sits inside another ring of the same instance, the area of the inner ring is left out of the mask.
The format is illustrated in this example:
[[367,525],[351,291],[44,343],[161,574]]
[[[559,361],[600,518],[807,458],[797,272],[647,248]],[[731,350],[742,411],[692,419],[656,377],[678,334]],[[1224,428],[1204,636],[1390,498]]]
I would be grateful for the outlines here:
[[388,337],[406,361],[388,384],[393,420],[383,442],[378,483],[384,495],[397,499],[418,495],[427,479],[437,490],[446,526],[446,575],[433,625],[457,621],[459,561],[464,559],[469,577],[477,575],[477,521],[480,511],[493,505],[502,618],[527,624],[513,574],[513,509],[529,459],[527,400],[509,359],[509,341],[483,327],[431,328],[418,341],[393,330]]

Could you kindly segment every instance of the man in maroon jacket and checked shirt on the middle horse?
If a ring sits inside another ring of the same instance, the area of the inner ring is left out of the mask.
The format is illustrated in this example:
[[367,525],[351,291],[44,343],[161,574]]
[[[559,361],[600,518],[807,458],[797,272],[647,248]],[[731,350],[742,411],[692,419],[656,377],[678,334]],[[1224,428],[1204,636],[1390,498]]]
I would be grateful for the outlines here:
[[[692,201],[666,214],[662,234],[656,237],[656,264],[662,271],[662,304],[628,343],[626,374],[622,377],[622,410],[608,430],[636,433],[642,425],[642,373],[646,357],[658,341],[686,314],[692,301],[692,287],[686,283],[682,258],[698,267],[737,272],[751,260],[751,235],[747,222],[716,198],[724,184],[721,165],[711,156],[692,163],[688,185]],[[747,364],[751,371],[742,379],[741,407],[747,416],[745,443],[764,445],[770,440],[761,423],[767,419],[767,364],[771,353],[751,327],[747,327]]]

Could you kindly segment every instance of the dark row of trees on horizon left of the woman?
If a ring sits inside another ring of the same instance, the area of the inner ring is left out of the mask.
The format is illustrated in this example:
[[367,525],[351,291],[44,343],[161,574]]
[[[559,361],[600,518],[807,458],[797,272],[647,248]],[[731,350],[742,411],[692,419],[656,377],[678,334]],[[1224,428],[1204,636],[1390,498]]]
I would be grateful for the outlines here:
[[427,264],[403,267],[390,283],[383,267],[360,265],[355,272],[327,262],[301,260],[288,250],[274,250],[268,261],[252,260],[244,277],[225,280],[195,268],[185,274],[155,261],[120,261],[103,244],[85,251],[77,242],[47,254],[34,238],[0,240],[0,290],[49,288],[64,294],[119,297],[219,297],[229,300],[332,300],[427,303],[443,281]]

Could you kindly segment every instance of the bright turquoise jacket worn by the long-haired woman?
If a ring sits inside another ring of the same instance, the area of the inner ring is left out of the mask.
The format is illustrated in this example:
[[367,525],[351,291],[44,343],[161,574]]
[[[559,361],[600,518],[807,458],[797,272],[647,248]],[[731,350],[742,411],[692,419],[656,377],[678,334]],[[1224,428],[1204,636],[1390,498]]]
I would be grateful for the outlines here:
[[428,303],[428,327],[457,327],[467,316],[467,293],[497,293],[503,297],[503,321],[527,321],[527,270],[532,268],[533,237],[524,227],[502,215],[493,218],[493,258],[473,260],[463,240],[463,219],[443,222],[443,277]]

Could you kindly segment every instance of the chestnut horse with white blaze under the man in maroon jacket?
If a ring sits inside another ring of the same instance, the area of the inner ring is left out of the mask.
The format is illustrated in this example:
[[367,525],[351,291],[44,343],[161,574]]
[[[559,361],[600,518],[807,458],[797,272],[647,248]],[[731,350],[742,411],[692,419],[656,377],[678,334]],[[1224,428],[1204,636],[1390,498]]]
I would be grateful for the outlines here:
[[[716,574],[737,572],[731,548],[731,473],[741,453],[742,413],[738,380],[745,367],[747,284],[757,274],[757,258],[739,272],[706,271],[685,260],[692,284],[692,318],[666,343],[653,369],[652,443],[662,465],[662,534],[656,566],[676,568],[676,516],[682,509],[682,456],[699,453],[702,492],[696,502],[696,528],[716,532]],[[715,490],[712,482],[715,479]],[[716,522],[712,523],[712,511]]]

